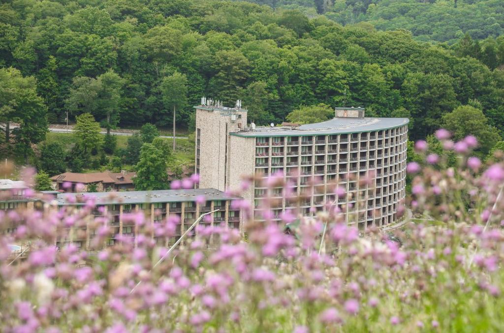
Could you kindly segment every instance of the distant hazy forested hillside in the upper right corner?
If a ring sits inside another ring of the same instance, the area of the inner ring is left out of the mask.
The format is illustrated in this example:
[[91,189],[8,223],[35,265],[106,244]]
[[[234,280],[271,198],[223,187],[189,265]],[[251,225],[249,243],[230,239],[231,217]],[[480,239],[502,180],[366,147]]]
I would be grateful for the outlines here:
[[342,25],[367,22],[378,30],[406,29],[417,40],[454,44],[464,34],[495,38],[504,31],[501,0],[247,0],[273,8],[324,14]]

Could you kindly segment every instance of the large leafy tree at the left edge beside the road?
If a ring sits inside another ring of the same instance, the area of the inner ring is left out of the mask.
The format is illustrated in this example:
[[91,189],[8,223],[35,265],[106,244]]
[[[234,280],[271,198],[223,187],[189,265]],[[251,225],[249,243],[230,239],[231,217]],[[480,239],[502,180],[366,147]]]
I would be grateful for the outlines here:
[[42,141],[47,132],[47,108],[36,88],[34,77],[23,77],[15,68],[0,68],[0,121],[5,123],[5,141],[10,141],[11,122],[18,122],[13,134],[25,156],[30,145]]

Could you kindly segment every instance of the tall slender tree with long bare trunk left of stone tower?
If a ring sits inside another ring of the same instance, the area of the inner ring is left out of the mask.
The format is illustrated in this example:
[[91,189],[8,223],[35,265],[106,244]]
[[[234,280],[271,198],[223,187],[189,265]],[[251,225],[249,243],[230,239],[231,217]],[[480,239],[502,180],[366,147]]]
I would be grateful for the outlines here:
[[187,105],[187,77],[179,72],[163,77],[160,86],[165,108],[173,108],[173,151],[175,151],[175,112]]

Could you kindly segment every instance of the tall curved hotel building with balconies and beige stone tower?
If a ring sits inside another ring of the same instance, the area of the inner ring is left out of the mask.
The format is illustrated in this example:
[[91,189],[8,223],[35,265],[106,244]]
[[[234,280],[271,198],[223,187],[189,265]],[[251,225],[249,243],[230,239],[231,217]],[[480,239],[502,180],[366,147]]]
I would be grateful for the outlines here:
[[[256,219],[265,218],[263,203],[273,197],[268,219],[279,220],[288,209],[308,215],[337,205],[359,229],[396,220],[405,197],[407,118],[365,118],[363,109],[336,108],[336,117],[321,123],[256,127],[247,126],[241,108],[195,108],[201,188],[237,189],[250,175],[282,175],[290,184],[288,191],[268,190],[259,180],[243,193]],[[337,195],[336,187],[344,191]],[[291,192],[305,195],[292,201]]]

